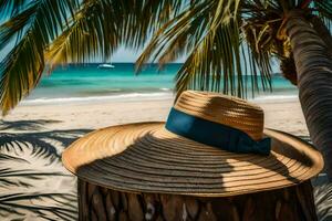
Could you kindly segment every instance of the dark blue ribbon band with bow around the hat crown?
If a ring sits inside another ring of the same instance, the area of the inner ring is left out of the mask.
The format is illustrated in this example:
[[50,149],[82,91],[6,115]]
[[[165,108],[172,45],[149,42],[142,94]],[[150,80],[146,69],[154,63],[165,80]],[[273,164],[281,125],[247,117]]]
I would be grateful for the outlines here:
[[206,120],[172,108],[166,129],[188,139],[239,154],[260,154],[268,156],[271,139],[253,140],[245,131],[234,127]]

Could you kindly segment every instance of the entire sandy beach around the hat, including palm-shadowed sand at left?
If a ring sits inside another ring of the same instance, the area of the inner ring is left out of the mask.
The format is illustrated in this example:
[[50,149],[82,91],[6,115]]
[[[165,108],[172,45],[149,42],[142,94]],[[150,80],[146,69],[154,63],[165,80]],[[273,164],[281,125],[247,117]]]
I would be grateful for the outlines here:
[[[266,127],[309,140],[298,101],[256,103],[264,109]],[[165,120],[172,104],[167,98],[20,105],[0,122],[0,220],[76,220],[76,180],[62,167],[62,150],[92,129]],[[323,175],[313,182],[320,220],[329,220],[332,188],[323,185]]]

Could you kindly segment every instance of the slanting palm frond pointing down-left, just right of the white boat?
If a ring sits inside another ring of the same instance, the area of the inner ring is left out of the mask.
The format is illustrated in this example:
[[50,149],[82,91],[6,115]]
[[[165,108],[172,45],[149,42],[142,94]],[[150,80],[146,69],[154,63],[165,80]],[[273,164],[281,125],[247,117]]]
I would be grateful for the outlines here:
[[[201,3],[190,7],[162,27],[136,62],[139,70],[148,60],[160,64],[188,53],[200,42],[208,25],[207,14],[214,4]],[[201,14],[201,15],[196,15]],[[203,15],[204,14],[204,15]]]

